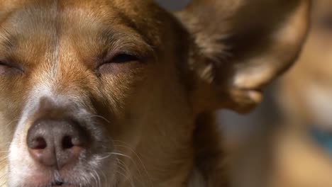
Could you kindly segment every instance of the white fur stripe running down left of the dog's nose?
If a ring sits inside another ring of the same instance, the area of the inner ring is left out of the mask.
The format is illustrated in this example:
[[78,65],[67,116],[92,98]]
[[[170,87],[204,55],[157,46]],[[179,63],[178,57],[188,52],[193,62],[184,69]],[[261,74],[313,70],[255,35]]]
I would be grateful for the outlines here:
[[31,93],[28,96],[26,106],[23,108],[21,118],[18,120],[16,131],[9,149],[9,186],[22,186],[21,183],[37,169],[34,161],[29,157],[28,147],[26,145],[26,134],[29,127],[30,116],[38,111],[40,98],[47,97],[56,102],[65,100],[63,96],[57,96],[55,90],[55,72],[54,69],[40,74],[40,82],[35,82]]

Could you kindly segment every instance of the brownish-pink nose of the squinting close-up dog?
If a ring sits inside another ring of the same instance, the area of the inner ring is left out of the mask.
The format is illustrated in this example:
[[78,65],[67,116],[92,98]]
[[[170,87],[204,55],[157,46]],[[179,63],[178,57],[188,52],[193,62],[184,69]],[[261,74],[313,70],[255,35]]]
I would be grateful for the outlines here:
[[27,135],[31,157],[55,169],[75,164],[87,142],[87,133],[74,120],[37,120]]

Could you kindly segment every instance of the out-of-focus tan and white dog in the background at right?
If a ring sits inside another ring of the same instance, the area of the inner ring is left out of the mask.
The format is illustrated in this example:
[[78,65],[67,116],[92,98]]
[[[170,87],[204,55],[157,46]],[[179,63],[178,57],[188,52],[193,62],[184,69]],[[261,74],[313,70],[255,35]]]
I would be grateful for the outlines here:
[[237,187],[332,186],[332,2],[313,5],[301,57],[275,88],[282,118],[243,145]]

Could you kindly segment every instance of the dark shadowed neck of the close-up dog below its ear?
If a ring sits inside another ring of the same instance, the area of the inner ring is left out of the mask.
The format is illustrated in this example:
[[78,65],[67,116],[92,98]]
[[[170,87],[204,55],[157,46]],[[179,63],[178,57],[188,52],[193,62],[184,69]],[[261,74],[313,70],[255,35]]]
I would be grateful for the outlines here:
[[[227,186],[226,157],[222,146],[222,133],[214,113],[203,113],[196,120],[194,130],[194,171],[190,187]],[[221,180],[222,179],[222,180]]]

